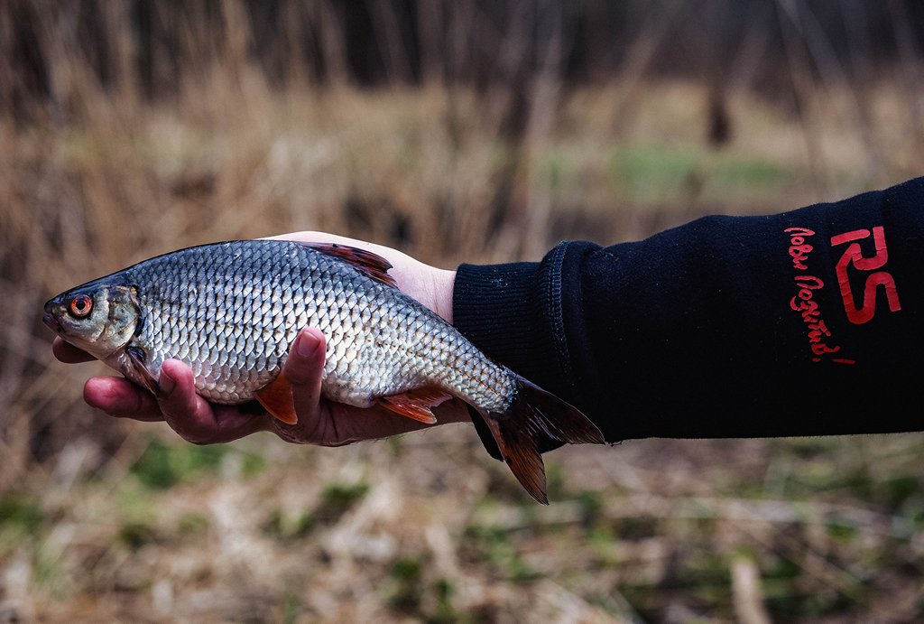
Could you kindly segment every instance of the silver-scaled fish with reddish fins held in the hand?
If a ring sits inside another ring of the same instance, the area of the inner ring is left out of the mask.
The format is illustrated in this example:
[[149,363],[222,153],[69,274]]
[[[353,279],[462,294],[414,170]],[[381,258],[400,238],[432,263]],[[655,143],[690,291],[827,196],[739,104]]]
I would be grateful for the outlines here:
[[465,401],[519,483],[548,504],[541,437],[600,444],[600,430],[402,292],[391,268],[337,243],[216,242],[70,288],[45,303],[43,322],[154,395],[161,364],[175,359],[202,398],[256,399],[290,424],[298,415],[283,365],[298,331],[316,327],[326,339],[324,398],[426,423],[444,400]]

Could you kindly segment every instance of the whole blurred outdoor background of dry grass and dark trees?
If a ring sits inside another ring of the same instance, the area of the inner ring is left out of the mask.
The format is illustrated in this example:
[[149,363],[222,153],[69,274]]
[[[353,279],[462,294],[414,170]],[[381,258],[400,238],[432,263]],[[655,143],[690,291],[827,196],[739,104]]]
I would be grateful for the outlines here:
[[117,422],[41,323],[202,242],[453,267],[889,186],[922,49],[914,0],[0,3],[0,621],[924,618],[921,434],[564,448],[540,508],[464,425]]

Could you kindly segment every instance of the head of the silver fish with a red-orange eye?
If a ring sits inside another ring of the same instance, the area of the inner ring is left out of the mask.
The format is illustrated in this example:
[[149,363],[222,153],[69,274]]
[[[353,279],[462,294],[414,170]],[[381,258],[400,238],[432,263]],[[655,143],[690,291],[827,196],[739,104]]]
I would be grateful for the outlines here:
[[125,348],[140,324],[135,288],[90,282],[45,303],[44,324],[98,360]]

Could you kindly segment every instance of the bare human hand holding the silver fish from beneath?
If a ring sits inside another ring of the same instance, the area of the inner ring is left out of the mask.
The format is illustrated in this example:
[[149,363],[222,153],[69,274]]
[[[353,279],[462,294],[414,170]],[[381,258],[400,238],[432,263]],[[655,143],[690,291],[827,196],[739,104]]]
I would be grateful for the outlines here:
[[[398,287],[433,311],[451,321],[452,288],[455,273],[444,271],[380,245],[346,239],[321,232],[298,232],[275,239],[335,242],[377,253],[394,268]],[[84,351],[55,338],[58,360],[73,363],[90,361]],[[84,400],[106,413],[138,421],[165,421],[184,439],[195,444],[229,442],[257,431],[272,431],[288,442],[341,446],[360,440],[403,434],[430,425],[397,416],[373,407],[359,409],[321,397],[324,363],[324,336],[316,329],[299,332],[286,359],[286,378],[292,383],[298,423],[279,422],[266,413],[254,413],[252,405],[215,405],[196,394],[193,374],[180,361],[164,361],[161,367],[161,393],[150,392],[121,377],[93,377],[84,385]],[[260,412],[261,410],[256,410]],[[434,409],[437,420],[467,422],[468,410],[459,400],[446,401]]]

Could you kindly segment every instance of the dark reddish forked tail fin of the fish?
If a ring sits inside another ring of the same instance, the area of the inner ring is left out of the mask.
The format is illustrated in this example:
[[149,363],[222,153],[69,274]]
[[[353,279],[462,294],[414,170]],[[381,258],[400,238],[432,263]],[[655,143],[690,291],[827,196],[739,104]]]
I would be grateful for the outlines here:
[[539,452],[541,435],[567,444],[602,444],[603,434],[580,410],[517,375],[517,394],[503,413],[480,411],[510,470],[529,495],[542,505],[545,464]]

